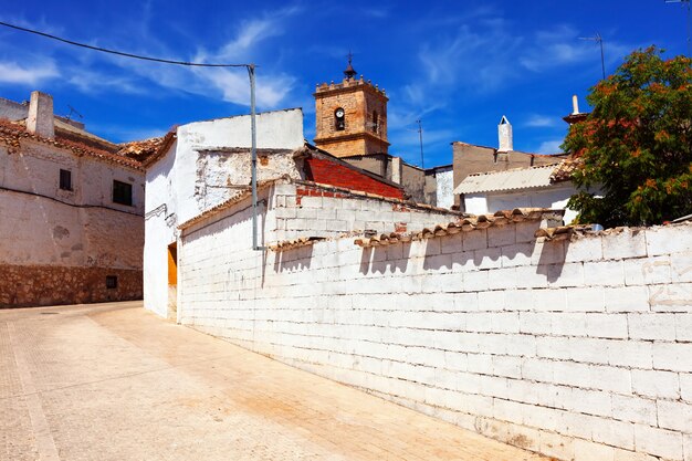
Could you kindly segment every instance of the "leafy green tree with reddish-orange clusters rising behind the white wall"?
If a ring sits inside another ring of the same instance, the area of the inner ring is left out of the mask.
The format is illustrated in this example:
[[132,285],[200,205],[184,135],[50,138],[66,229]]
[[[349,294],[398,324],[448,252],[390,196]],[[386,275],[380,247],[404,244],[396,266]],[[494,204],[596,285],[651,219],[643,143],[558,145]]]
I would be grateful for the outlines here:
[[594,111],[565,138],[579,161],[568,203],[578,222],[646,226],[692,213],[692,60],[661,54],[636,51],[591,87]]

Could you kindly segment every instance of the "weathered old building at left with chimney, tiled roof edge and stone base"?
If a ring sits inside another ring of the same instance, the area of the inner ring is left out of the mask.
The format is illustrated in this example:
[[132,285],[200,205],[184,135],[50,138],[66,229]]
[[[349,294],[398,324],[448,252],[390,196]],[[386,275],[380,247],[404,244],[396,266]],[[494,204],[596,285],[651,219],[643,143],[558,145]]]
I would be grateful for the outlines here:
[[53,123],[34,92],[0,125],[0,307],[140,298],[144,170]]

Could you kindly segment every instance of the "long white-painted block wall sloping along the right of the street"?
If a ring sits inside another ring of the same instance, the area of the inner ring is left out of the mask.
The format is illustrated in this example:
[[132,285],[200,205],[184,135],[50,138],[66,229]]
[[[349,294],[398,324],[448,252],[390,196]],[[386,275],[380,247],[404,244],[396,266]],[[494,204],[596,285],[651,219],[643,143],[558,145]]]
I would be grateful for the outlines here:
[[281,253],[241,247],[249,226],[184,234],[182,323],[557,459],[692,455],[692,226]]

